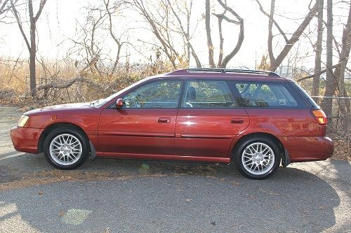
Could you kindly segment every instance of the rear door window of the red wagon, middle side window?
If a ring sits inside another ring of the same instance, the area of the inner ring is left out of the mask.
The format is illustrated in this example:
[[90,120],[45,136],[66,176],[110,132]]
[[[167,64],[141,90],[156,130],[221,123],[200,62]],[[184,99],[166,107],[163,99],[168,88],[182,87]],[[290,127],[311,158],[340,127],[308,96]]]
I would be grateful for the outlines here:
[[190,80],[185,82],[183,108],[233,108],[237,106],[225,81]]

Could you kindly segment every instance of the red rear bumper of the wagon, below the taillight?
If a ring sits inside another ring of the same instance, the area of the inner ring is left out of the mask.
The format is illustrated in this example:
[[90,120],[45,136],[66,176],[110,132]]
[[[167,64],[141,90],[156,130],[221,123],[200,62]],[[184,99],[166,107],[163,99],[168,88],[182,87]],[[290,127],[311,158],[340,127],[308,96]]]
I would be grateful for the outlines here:
[[326,136],[289,136],[281,139],[291,162],[326,160],[333,155],[333,141]]

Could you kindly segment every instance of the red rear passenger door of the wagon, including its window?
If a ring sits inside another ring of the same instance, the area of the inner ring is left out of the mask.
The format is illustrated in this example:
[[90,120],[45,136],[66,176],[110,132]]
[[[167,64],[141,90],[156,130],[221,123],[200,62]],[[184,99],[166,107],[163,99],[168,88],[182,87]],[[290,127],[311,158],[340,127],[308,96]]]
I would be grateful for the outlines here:
[[226,157],[230,145],[249,125],[225,80],[188,80],[176,122],[176,153]]

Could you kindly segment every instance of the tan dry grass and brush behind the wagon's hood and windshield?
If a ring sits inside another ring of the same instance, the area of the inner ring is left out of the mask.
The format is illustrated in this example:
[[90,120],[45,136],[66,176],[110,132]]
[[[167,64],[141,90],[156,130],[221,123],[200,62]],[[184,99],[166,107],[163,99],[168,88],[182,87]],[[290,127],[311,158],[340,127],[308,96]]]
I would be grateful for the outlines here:
[[65,88],[48,88],[38,90],[32,99],[29,90],[29,66],[25,60],[0,58],[0,104],[20,106],[24,110],[53,104],[93,101],[135,83],[136,81],[158,73],[171,71],[167,63],[157,62],[150,65],[119,67],[118,71],[109,73],[107,68],[100,70],[89,67],[77,68],[74,62],[46,62],[37,64],[37,88],[53,84],[65,85],[69,80],[81,78]]

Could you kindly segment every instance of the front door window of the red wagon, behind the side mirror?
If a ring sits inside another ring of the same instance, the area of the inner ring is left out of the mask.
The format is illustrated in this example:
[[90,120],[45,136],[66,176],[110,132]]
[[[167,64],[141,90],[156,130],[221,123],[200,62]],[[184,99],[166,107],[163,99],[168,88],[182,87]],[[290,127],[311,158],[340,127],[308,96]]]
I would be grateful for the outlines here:
[[181,80],[147,83],[124,96],[124,108],[178,108],[181,85]]

